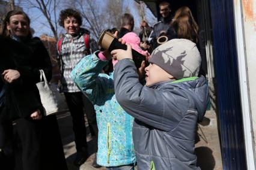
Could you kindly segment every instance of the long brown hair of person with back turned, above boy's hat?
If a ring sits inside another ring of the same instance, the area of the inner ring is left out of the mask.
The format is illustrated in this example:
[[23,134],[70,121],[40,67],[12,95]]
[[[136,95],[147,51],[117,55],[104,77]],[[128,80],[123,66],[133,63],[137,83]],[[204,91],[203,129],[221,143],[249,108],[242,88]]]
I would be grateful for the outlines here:
[[171,22],[178,38],[184,38],[195,43],[198,42],[198,25],[189,7],[181,7],[175,13]]

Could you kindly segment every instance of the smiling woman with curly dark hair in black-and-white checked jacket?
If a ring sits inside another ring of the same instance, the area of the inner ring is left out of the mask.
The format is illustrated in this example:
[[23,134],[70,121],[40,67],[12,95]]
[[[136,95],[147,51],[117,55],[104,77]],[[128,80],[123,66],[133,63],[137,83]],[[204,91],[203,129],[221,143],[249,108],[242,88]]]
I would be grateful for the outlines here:
[[[81,28],[81,14],[73,9],[62,10],[59,14],[59,25],[66,30],[64,38],[60,43],[58,59],[61,69],[61,90],[66,97],[67,105],[72,116],[73,131],[75,133],[76,158],[74,164],[82,165],[88,157],[87,130],[85,128],[84,110],[87,116],[91,133],[96,135],[97,141],[97,121],[93,104],[78,89],[70,77],[71,71],[77,63],[90,53],[87,41],[85,41],[88,32]],[[97,147],[97,145],[96,145]],[[93,166],[99,167],[94,161]]]

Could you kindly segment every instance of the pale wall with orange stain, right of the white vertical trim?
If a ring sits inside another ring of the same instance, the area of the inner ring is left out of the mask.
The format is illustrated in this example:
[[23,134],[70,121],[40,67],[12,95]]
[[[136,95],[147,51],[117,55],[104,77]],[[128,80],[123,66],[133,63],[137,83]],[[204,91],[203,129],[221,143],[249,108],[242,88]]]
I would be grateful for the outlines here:
[[[254,144],[256,141],[256,0],[242,0],[245,55],[248,69],[249,104],[251,105]],[[255,146],[256,147],[256,146]]]

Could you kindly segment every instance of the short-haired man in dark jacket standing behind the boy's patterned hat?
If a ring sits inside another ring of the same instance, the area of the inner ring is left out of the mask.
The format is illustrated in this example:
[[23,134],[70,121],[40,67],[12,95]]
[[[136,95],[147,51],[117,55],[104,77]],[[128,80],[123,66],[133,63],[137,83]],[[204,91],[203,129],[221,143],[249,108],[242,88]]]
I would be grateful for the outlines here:
[[169,24],[172,21],[171,5],[169,4],[169,2],[160,2],[159,11],[162,17],[160,18],[159,22],[153,25],[153,30],[151,31],[151,34],[148,38],[148,41],[152,45],[152,50],[154,50],[154,48],[159,45],[157,43],[157,38],[159,38],[160,35],[166,34],[169,28]]

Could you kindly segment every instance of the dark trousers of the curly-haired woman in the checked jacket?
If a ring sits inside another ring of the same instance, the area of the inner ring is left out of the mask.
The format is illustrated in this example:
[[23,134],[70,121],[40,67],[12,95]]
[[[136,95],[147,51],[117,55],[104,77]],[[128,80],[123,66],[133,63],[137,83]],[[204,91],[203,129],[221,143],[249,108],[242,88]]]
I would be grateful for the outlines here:
[[[84,110],[87,116],[91,134],[98,135],[96,113],[93,104],[87,99],[82,92],[64,93],[72,116],[73,131],[75,133],[76,150],[83,151],[87,148],[87,132],[85,128]],[[97,147],[97,146],[96,146]]]

